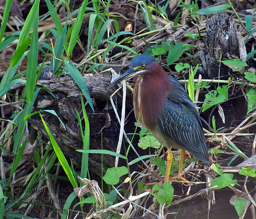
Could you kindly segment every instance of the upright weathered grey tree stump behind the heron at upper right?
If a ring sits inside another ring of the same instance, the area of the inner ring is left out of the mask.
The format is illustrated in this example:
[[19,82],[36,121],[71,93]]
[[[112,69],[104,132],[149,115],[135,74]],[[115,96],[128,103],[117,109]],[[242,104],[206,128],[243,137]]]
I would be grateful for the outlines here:
[[210,79],[220,76],[225,80],[232,72],[222,63],[219,68],[220,60],[246,59],[245,45],[241,33],[237,31],[237,24],[225,13],[217,13],[207,20],[204,43],[205,48],[201,51],[200,58],[204,75]]

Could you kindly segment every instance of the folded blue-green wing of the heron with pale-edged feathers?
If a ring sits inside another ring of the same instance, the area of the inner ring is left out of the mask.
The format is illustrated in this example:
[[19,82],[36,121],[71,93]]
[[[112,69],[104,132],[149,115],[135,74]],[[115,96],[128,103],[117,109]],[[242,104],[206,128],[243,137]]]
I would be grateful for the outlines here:
[[172,80],[170,86],[158,127],[182,148],[208,163],[207,145],[196,107],[180,83]]

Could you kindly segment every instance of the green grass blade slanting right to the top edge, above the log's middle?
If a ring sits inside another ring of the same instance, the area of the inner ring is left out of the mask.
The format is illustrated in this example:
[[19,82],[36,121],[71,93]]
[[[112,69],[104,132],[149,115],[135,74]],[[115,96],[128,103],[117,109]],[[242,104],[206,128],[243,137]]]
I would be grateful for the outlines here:
[[[83,1],[83,4],[80,8],[78,16],[76,17],[76,22],[74,24],[73,31],[71,33],[71,37],[70,37],[70,41],[69,41],[69,45],[68,45],[68,52],[67,52],[68,56],[71,55],[71,53],[76,45],[87,3],[88,3],[88,0]],[[70,18],[70,19],[72,19],[72,18]]]

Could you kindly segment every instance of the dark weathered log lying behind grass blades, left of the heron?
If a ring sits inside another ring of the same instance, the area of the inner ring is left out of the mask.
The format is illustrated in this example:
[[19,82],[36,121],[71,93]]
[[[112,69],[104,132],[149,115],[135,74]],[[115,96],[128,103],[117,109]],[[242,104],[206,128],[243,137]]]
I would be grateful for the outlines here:
[[[109,88],[110,78],[100,76],[87,76],[84,77],[84,80],[86,81],[90,96],[93,99],[95,110],[95,112],[93,112],[89,105],[86,107],[90,123],[90,149],[101,149],[101,145],[103,145],[103,149],[116,151],[120,126],[114,111],[104,110],[104,108],[111,105],[109,97],[117,89],[117,86]],[[78,112],[82,110],[80,100],[81,91],[78,85],[76,85],[74,80],[70,77],[39,80],[38,84],[46,87],[55,97],[44,89],[41,89],[35,100],[34,111],[54,110],[57,113],[65,124],[66,130],[56,116],[48,112],[42,112],[42,116],[64,155],[71,158],[72,162],[75,164],[80,164],[82,153],[75,151],[83,148],[75,112],[75,109],[78,110]],[[122,92],[119,91],[114,99],[115,98],[117,98],[117,103],[122,103]],[[84,102],[85,101],[84,99]],[[129,111],[132,110],[132,94],[128,94],[126,105],[128,114]],[[82,114],[80,114],[80,116],[81,118],[83,117]],[[134,119],[133,114],[129,118],[131,120]],[[35,130],[40,131],[46,139],[49,139],[38,114],[32,116],[29,119],[29,123],[31,123]],[[129,122],[129,124],[133,124],[133,127],[126,126],[125,128],[127,132],[132,132],[133,128],[135,128],[134,121]],[[113,166],[113,156],[103,154],[103,172]],[[89,155],[89,169],[98,176],[101,176],[101,154]]]

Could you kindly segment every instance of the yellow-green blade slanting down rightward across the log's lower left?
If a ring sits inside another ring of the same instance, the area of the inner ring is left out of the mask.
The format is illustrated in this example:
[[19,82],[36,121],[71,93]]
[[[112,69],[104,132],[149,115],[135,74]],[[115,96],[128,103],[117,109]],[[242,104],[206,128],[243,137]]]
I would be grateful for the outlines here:
[[70,183],[72,184],[72,186],[74,188],[78,187],[78,185],[76,183],[76,180],[75,180],[75,177],[74,177],[74,175],[73,175],[73,173],[72,173],[72,171],[71,171],[71,169],[69,167],[69,164],[68,164],[66,158],[64,157],[64,154],[60,150],[60,147],[57,144],[57,142],[55,141],[55,139],[53,138],[52,133],[50,132],[49,128],[46,126],[46,123],[45,123],[45,121],[44,121],[44,119],[43,119],[41,114],[40,114],[40,117],[41,117],[42,122],[44,124],[44,127],[45,127],[45,129],[46,129],[46,131],[47,131],[47,133],[49,135],[50,142],[52,143],[53,149],[54,149],[54,151],[55,151],[55,153],[56,153],[56,155],[57,155],[57,157],[58,157],[58,159],[60,161],[61,166],[63,167],[65,173],[67,174]]

